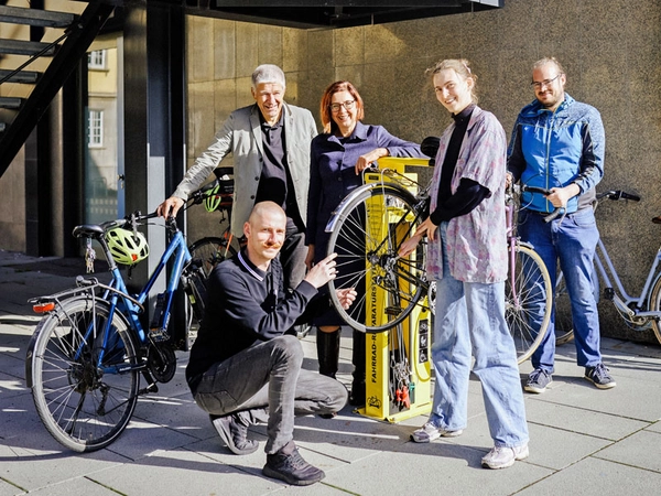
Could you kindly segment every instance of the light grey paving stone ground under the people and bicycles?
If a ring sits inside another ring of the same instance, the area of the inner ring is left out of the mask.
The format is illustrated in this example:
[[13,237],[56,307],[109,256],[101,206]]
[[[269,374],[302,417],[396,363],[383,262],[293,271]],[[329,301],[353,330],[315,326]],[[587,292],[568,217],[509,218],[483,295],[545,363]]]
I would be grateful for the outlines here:
[[[78,265],[79,263],[79,265]],[[332,420],[296,419],[302,455],[326,472],[313,486],[264,477],[264,453],[231,454],[184,380],[140,399],[126,432],[87,454],[63,449],[42,425],[25,387],[24,356],[39,317],[26,301],[73,284],[82,261],[34,259],[0,250],[0,496],[9,495],[658,495],[661,494],[661,347],[605,338],[617,380],[598,390],[583,379],[572,343],[557,348],[553,384],[527,395],[530,457],[503,471],[480,467],[491,448],[480,386],[469,388],[468,428],[459,438],[414,444],[426,417],[388,423],[345,408]],[[314,336],[302,339],[316,369]],[[520,367],[522,379],[530,363]],[[350,332],[343,336],[339,380],[350,381]],[[263,441],[263,427],[250,435]],[[262,443],[263,444],[263,443]]]

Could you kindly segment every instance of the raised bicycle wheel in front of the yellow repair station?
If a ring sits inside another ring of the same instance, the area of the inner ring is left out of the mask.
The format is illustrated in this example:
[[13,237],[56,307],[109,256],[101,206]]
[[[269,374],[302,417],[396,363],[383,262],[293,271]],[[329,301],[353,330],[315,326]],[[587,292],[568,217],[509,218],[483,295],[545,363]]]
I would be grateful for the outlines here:
[[[360,192],[338,214],[328,241],[328,254],[337,254],[338,276],[328,287],[338,314],[357,331],[394,327],[426,294],[425,245],[398,257],[399,247],[421,222],[414,205],[408,191],[379,184]],[[346,310],[335,293],[345,288],[358,292]]]

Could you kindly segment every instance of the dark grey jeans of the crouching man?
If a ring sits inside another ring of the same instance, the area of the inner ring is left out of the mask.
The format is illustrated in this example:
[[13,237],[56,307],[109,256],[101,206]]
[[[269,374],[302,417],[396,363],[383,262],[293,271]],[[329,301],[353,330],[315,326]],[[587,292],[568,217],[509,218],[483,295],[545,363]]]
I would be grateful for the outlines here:
[[247,411],[252,422],[267,422],[264,451],[273,454],[293,439],[294,416],[335,413],[347,403],[340,382],[302,364],[297,337],[274,337],[212,366],[195,402],[210,414]]

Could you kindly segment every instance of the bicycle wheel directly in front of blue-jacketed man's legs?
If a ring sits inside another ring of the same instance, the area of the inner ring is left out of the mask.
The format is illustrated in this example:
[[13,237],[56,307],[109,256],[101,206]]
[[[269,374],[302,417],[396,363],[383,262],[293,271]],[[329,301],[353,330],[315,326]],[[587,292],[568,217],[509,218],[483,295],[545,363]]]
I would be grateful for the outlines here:
[[530,358],[549,330],[553,292],[546,266],[532,248],[516,245],[513,267],[506,282],[505,313],[520,364]]

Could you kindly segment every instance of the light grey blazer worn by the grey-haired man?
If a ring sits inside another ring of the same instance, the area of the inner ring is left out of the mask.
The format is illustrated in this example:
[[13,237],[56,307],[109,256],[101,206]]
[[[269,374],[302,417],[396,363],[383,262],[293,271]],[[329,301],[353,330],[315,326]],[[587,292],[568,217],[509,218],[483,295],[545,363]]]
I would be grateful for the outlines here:
[[[317,128],[310,110],[283,104],[286,162],[299,212],[305,222],[307,190],[310,187],[310,143],[317,136]],[[263,165],[263,144],[259,107],[253,104],[230,114],[214,138],[214,142],[188,169],[173,196],[184,201],[199,188],[220,161],[231,152],[234,155],[235,197],[231,211],[231,233],[243,235],[243,224],[254,206],[257,187]]]

